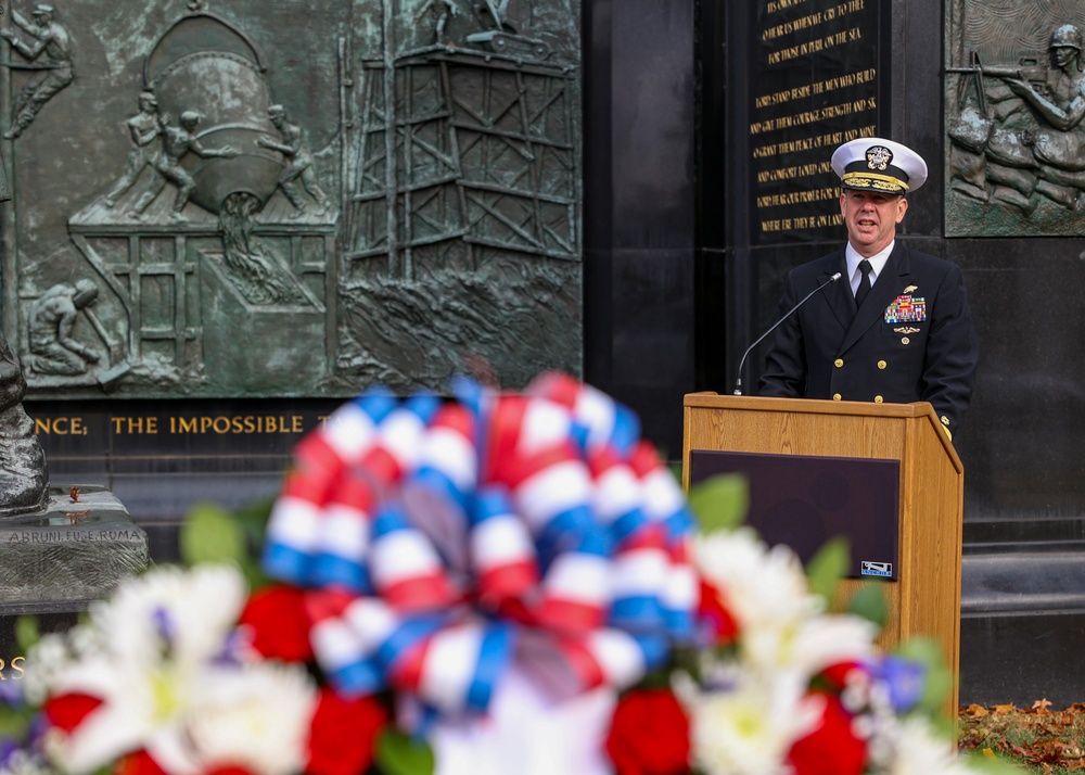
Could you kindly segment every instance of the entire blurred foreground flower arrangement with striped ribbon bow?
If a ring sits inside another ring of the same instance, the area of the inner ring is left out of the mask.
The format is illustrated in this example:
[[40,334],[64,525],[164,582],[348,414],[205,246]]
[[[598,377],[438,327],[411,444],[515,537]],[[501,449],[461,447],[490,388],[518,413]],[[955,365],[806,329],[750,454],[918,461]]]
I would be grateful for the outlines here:
[[687,501],[636,417],[565,374],[452,392],[347,403],[263,518],[199,510],[189,569],[41,637],[0,682],[2,768],[971,770],[932,723],[936,660],[826,611],[839,547],[812,587],[736,524],[733,481]]

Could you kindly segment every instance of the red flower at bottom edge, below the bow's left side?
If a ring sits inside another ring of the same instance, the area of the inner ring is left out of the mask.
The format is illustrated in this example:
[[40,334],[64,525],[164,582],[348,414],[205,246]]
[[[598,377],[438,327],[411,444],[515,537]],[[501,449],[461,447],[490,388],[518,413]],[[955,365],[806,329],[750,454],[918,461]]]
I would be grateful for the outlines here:
[[373,746],[387,725],[387,711],[372,697],[348,700],[322,689],[309,732],[305,772],[360,775],[373,763]]

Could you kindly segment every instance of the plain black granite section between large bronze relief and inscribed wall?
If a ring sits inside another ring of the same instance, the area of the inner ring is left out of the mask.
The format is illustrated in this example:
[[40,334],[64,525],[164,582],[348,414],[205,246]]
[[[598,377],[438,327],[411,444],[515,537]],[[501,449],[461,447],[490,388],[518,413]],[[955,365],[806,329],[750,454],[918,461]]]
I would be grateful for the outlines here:
[[671,459],[693,390],[694,7],[585,0],[585,377]]

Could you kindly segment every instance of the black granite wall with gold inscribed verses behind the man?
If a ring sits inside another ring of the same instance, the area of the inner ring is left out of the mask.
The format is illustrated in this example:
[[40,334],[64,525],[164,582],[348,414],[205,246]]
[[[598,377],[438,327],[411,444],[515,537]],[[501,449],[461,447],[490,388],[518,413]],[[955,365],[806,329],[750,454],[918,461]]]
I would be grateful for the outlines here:
[[[1062,21],[1085,23],[1057,5],[1069,14]],[[966,469],[960,699],[1046,697],[1064,707],[1085,696],[1076,669],[1085,635],[1085,365],[1075,322],[1085,254],[1080,239],[1035,229],[946,236],[947,220],[955,233],[962,225],[946,194],[944,96],[959,75],[946,72],[944,52],[960,14],[981,7],[701,4],[698,387],[730,391],[743,350],[773,322],[786,274],[843,241],[843,227],[820,220],[834,204],[818,194],[831,173],[816,166],[832,152],[830,135],[873,127],[922,154],[930,179],[911,198],[898,239],[962,268],[980,343],[975,395],[954,439]],[[838,99],[833,82],[846,82],[850,97]],[[1063,220],[1072,217],[1064,211]],[[813,226],[801,220],[808,218]],[[745,384],[763,355],[751,356]]]

